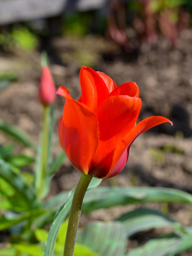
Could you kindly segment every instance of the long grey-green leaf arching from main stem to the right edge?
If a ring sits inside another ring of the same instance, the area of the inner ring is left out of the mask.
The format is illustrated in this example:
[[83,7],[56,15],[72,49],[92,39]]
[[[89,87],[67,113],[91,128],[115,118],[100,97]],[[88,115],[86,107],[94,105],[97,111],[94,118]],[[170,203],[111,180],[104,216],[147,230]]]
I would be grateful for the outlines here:
[[82,212],[88,213],[100,208],[146,202],[192,204],[192,195],[168,188],[100,186],[85,194]]

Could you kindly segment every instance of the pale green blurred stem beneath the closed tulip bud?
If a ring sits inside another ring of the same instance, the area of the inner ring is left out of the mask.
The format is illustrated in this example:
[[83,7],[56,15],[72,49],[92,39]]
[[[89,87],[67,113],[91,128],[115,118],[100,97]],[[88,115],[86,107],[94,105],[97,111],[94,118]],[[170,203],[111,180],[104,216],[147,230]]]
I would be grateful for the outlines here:
[[50,106],[43,106],[43,121],[42,121],[42,144],[40,150],[40,166],[36,172],[36,191],[40,197],[45,186],[45,176],[49,152],[49,117]]

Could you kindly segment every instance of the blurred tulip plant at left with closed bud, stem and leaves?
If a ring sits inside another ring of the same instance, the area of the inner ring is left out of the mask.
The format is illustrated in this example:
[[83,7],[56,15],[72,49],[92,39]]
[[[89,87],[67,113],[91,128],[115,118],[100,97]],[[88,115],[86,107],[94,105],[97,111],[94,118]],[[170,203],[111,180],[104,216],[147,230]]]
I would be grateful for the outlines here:
[[38,146],[23,130],[0,119],[2,132],[31,149],[31,155],[15,154],[12,145],[0,146],[0,230],[9,229],[11,243],[34,240],[36,227],[44,227],[54,218],[56,209],[44,207],[44,199],[51,176],[65,157],[63,151],[55,157],[52,150],[55,98],[51,73],[44,66],[39,85],[43,119]]

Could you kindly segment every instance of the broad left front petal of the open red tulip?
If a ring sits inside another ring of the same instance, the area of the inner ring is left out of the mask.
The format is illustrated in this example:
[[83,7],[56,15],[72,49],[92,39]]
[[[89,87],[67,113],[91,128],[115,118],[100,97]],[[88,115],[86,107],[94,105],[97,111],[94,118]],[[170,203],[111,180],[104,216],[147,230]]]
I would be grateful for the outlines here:
[[59,138],[73,166],[87,174],[99,141],[95,113],[83,103],[66,99],[63,118],[59,123]]

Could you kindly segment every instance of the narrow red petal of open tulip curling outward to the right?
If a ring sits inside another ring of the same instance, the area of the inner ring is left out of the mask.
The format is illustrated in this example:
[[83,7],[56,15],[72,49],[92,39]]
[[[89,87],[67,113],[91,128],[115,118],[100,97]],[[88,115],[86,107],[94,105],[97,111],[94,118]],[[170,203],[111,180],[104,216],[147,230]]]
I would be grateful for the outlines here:
[[[125,138],[118,143],[116,150],[114,152],[111,171],[105,176],[105,178],[113,177],[114,175],[117,174],[116,164],[118,163],[118,160],[121,159],[123,154],[125,154],[125,150],[129,152],[130,146],[141,133],[145,132],[146,130],[149,130],[154,126],[157,126],[159,124],[163,124],[166,122],[169,122],[170,124],[172,124],[172,121],[170,121],[166,117],[153,116],[153,117],[147,117],[143,119],[136,126],[134,126],[134,128],[130,130],[130,132],[128,132]],[[127,153],[127,157],[128,157],[128,153]]]

